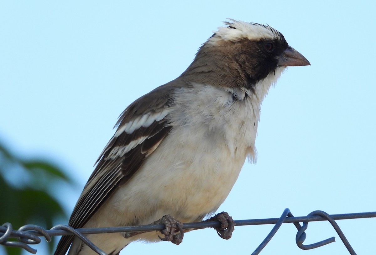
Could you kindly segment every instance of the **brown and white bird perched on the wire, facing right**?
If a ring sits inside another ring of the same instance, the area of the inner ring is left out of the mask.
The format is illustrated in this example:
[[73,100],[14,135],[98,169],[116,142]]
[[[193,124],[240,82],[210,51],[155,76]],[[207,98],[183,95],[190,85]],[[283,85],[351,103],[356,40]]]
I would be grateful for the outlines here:
[[[179,77],[121,113],[68,225],[100,228],[167,219],[164,238],[155,231],[86,237],[110,255],[136,240],[179,244],[180,222],[214,215],[246,159],[255,160],[261,103],[271,86],[288,66],[304,65],[309,61],[273,27],[224,21]],[[226,213],[222,218],[230,222]],[[63,236],[55,255],[68,249],[68,255],[96,254],[79,238]]]

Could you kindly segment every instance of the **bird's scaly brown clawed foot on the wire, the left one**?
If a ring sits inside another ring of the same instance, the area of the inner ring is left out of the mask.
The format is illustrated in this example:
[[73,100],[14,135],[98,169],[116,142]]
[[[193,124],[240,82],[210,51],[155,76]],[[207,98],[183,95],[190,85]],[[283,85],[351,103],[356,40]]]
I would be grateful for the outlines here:
[[153,224],[164,224],[166,226],[165,229],[160,230],[165,237],[162,238],[158,235],[162,241],[170,241],[176,245],[179,245],[183,241],[183,223],[171,217],[170,214],[163,216]]

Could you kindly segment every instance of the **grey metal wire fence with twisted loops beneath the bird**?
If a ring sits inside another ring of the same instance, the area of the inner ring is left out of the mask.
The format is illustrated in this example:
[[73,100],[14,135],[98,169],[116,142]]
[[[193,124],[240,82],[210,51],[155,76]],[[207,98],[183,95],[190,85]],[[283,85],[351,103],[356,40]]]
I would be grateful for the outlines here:
[[[235,226],[247,226],[247,225],[264,225],[264,224],[275,224],[270,233],[265,237],[264,241],[256,248],[252,255],[257,255],[262,249],[267,245],[271,238],[276,234],[282,223],[293,223],[298,232],[296,234],[296,244],[300,249],[309,250],[314,249],[335,241],[334,237],[328,238],[326,240],[313,243],[313,244],[303,244],[306,238],[306,229],[308,227],[308,222],[312,221],[329,221],[342,242],[346,246],[347,250],[351,255],[356,255],[355,251],[351,247],[349,241],[347,241],[345,235],[341,231],[340,227],[337,225],[335,220],[344,219],[360,219],[360,218],[373,218],[376,217],[376,212],[358,212],[350,214],[332,214],[329,215],[324,211],[313,211],[307,216],[294,217],[291,214],[290,209],[286,208],[283,214],[279,218],[271,219],[251,219],[251,220],[235,220]],[[300,222],[303,225],[300,225]],[[202,229],[202,228],[218,228],[221,226],[220,222],[194,222],[194,223],[183,223],[183,229]],[[5,223],[0,226],[0,244],[5,246],[20,247],[27,250],[30,253],[36,254],[36,249],[33,249],[29,244],[38,244],[41,242],[41,238],[44,237],[46,241],[51,241],[52,236],[56,235],[75,235],[80,238],[86,245],[88,245],[92,250],[100,255],[107,255],[103,250],[99,249],[95,244],[93,244],[85,234],[101,234],[101,233],[116,233],[116,232],[150,232],[150,231],[160,231],[165,229],[164,224],[158,225],[143,225],[143,226],[122,226],[122,227],[112,227],[112,228],[86,228],[86,229],[74,229],[68,225],[56,225],[50,230],[45,230],[40,226],[36,225],[24,225],[18,230],[12,228],[11,223]],[[8,240],[9,238],[17,238],[18,241]]]

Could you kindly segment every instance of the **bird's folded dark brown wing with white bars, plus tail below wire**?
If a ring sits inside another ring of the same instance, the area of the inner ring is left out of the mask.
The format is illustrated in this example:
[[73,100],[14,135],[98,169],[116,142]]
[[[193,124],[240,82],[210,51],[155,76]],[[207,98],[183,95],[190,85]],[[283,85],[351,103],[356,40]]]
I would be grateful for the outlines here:
[[[97,160],[97,166],[73,209],[69,226],[83,228],[108,197],[133,176],[145,158],[170,132],[172,126],[166,116],[170,105],[168,94],[172,89],[168,85],[161,86],[124,110],[114,137]],[[64,255],[73,238],[71,235],[62,236],[54,254]]]

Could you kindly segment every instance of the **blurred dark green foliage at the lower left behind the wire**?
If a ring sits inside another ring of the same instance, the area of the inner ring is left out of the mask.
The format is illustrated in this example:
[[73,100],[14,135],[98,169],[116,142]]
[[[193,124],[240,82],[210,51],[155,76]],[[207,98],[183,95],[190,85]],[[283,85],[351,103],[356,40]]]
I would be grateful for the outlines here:
[[[36,224],[45,229],[53,220],[67,218],[60,203],[52,196],[57,183],[74,184],[56,165],[38,159],[22,159],[0,144],[0,224],[9,222],[14,229]],[[49,243],[50,253],[53,243]],[[9,255],[20,255],[21,248],[8,247]]]

